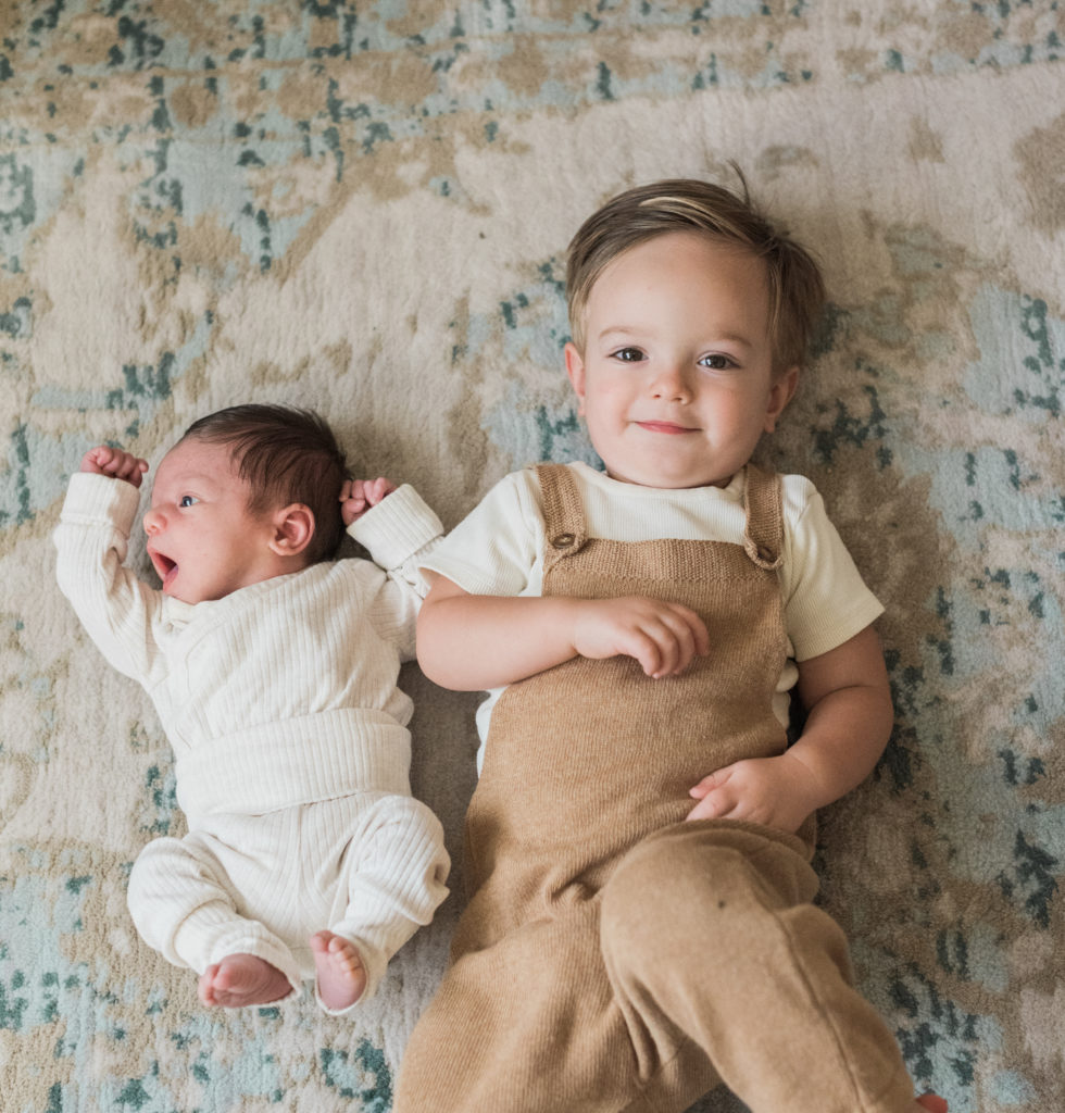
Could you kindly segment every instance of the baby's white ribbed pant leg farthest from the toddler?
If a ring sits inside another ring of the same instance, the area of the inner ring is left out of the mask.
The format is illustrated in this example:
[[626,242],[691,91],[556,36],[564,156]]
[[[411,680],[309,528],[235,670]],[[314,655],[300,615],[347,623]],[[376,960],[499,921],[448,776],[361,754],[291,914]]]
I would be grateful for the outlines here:
[[299,991],[292,951],[262,923],[241,915],[240,894],[207,843],[193,833],[155,839],[141,850],[127,892],[137,930],[175,966],[203,974],[227,955],[250,954]]

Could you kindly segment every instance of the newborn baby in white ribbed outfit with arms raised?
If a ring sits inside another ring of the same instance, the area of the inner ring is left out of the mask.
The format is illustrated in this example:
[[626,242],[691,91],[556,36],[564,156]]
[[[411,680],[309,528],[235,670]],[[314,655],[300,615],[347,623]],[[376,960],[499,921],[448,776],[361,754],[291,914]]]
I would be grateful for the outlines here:
[[[266,1004],[314,976],[319,1005],[346,1012],[447,894],[396,687],[440,521],[413,487],[347,479],[316,414],[234,406],[159,464],[144,516],[157,591],[122,565],[147,471],[87,452],[55,533],[63,593],[174,747],[188,835],[137,858],[134,923],[199,974],[205,1005]],[[376,563],[333,560],[345,526]]]

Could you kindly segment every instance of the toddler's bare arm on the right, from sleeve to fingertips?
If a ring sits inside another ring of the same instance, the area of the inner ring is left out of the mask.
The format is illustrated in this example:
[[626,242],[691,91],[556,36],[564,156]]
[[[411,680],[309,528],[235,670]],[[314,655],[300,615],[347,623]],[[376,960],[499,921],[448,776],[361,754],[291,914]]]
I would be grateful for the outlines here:
[[880,641],[872,627],[799,664],[808,709],[801,737],[776,758],[738,761],[691,789],[689,819],[747,819],[796,831],[811,811],[838,800],[872,771],[894,711]]

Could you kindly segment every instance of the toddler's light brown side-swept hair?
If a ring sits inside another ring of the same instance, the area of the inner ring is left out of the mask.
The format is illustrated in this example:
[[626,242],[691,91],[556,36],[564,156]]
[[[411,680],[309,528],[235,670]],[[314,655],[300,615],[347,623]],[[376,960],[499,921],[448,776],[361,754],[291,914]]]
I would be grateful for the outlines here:
[[655,181],[619,194],[581,225],[566,266],[570,332],[578,348],[584,347],[588,298],[603,270],[655,236],[693,232],[766,264],[773,371],[782,374],[802,363],[825,304],[820,269],[806,248],[761,213],[739,167],[733,164],[732,169],[742,194],[691,178]]

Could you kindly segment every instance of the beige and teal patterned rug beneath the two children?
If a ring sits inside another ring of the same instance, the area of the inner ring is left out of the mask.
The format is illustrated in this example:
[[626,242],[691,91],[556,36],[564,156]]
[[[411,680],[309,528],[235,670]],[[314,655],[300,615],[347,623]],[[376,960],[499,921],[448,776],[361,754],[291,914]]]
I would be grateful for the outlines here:
[[[1046,0],[0,3],[6,1111],[386,1113],[460,904],[347,1021],[206,1012],[139,940],[130,863],[184,819],[150,705],[55,587],[82,452],[155,463],[208,411],[310,404],[450,526],[589,457],[581,219],[729,159],[831,297],[761,456],[887,605],[897,727],[825,817],[824,899],[921,1085],[1065,1109],[1063,43]],[[457,860],[476,700],[403,683]]]

